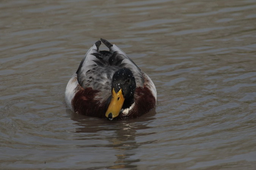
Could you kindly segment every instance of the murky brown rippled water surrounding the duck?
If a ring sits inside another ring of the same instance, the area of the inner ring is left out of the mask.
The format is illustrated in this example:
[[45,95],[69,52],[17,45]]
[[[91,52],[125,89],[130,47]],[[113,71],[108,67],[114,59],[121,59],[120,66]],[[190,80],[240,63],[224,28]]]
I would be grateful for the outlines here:
[[[2,0],[0,11],[1,168],[256,168],[255,0]],[[155,112],[66,110],[66,83],[101,37],[152,78]]]

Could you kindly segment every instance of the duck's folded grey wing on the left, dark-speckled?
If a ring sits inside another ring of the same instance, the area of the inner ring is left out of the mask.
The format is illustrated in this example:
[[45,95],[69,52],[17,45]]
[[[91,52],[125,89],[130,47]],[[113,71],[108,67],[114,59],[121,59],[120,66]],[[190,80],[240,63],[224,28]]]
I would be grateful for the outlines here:
[[115,71],[105,70],[107,67],[106,61],[102,58],[99,52],[101,41],[97,41],[85,54],[77,69],[77,81],[83,88],[91,87],[94,90],[104,91],[111,89],[111,79],[109,74],[114,74]]

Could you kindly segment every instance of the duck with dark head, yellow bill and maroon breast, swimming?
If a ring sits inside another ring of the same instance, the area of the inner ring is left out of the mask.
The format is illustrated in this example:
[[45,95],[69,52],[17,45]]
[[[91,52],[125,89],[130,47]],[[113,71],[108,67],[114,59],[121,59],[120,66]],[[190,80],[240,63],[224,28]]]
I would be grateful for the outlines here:
[[[101,42],[109,51],[100,51]],[[91,46],[69,79],[66,106],[78,114],[113,119],[139,117],[155,109],[149,76],[123,50],[105,39]]]

